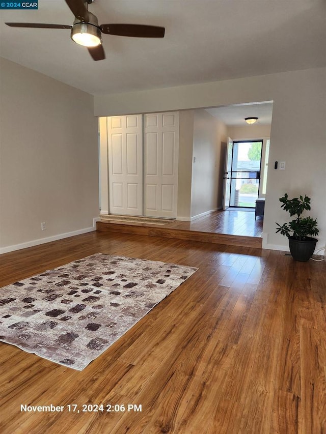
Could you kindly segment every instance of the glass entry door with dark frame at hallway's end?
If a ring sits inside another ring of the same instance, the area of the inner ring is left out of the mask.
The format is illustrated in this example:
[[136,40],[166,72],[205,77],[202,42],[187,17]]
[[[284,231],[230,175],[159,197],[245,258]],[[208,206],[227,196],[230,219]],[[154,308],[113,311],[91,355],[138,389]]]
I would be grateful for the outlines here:
[[258,198],[262,140],[233,141],[231,207],[255,208]]

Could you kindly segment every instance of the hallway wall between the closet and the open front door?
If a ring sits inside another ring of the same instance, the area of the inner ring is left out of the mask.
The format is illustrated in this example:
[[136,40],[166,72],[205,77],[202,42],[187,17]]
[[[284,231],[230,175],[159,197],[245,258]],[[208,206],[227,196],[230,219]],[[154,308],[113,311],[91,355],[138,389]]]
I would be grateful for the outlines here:
[[191,216],[218,208],[221,142],[226,140],[225,125],[203,109],[194,110],[194,144]]

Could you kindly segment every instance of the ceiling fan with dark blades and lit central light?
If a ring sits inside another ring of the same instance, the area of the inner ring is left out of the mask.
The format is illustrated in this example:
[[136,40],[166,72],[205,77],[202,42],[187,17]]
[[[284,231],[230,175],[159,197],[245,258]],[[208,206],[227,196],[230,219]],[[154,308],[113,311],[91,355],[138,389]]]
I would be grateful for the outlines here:
[[6,22],[11,27],[69,28],[70,37],[77,44],[88,48],[93,60],[105,59],[102,47],[102,33],[135,38],[164,38],[165,28],[143,24],[98,24],[97,17],[88,11],[94,0],[65,0],[75,20],[72,25],[44,24],[33,22]]

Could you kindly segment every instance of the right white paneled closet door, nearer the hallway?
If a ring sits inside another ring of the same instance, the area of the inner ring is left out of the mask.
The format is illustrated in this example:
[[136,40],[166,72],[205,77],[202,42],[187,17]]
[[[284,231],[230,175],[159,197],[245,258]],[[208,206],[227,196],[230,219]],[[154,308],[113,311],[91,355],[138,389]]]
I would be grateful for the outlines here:
[[179,112],[144,115],[144,215],[176,218]]

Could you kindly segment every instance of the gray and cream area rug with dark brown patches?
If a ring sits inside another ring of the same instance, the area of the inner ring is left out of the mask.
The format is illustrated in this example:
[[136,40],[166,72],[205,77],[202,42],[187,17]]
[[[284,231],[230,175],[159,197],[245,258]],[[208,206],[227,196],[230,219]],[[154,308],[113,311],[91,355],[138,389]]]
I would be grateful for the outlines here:
[[83,370],[197,268],[96,253],[0,290],[0,340]]

